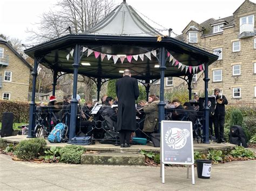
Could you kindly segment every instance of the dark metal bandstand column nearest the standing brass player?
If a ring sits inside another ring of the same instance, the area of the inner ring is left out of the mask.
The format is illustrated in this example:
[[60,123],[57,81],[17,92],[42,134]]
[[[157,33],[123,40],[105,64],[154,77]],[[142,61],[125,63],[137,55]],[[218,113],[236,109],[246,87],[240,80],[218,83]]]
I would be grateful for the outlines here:
[[208,107],[208,65],[205,64],[205,107],[204,107],[204,126],[203,126],[203,143],[210,143],[209,142],[209,110]]

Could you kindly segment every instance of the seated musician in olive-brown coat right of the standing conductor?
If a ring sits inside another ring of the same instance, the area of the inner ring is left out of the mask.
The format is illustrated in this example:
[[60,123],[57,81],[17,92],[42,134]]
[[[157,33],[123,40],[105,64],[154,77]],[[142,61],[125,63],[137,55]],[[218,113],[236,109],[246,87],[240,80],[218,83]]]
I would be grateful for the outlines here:
[[153,133],[154,128],[158,126],[158,103],[158,98],[155,95],[150,95],[149,103],[146,103],[143,107],[143,111],[146,114],[143,132],[145,132],[147,135]]

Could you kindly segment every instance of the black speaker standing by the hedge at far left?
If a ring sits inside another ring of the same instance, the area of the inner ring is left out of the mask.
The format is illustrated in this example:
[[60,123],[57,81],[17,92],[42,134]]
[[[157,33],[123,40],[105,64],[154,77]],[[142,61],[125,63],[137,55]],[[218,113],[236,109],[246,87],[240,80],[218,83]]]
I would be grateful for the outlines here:
[[1,137],[12,136],[12,124],[14,123],[13,112],[3,112]]

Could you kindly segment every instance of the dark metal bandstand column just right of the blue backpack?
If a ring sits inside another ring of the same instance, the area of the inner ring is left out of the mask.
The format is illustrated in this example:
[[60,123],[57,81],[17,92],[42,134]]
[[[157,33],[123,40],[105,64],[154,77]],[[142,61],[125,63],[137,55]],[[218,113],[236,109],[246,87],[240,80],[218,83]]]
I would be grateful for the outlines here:
[[75,137],[76,134],[76,121],[77,121],[77,78],[78,78],[78,67],[79,62],[81,59],[82,51],[80,50],[80,46],[75,46],[75,53],[74,53],[74,63],[73,63],[73,97],[71,100],[71,112],[70,112],[70,126],[69,126],[69,141]]

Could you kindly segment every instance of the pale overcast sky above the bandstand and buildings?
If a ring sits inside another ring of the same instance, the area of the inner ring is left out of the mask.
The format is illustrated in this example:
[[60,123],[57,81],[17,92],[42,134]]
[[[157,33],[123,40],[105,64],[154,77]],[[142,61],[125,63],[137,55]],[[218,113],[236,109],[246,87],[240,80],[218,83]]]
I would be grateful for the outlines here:
[[[118,5],[123,0],[114,0]],[[251,0],[256,3],[256,0]],[[0,34],[19,38],[29,44],[26,29],[35,29],[43,12],[54,10],[57,0],[0,0]],[[202,23],[208,18],[218,19],[232,16],[244,0],[126,0],[143,15],[172,28],[178,34],[191,21]],[[145,19],[148,22],[147,19]]]

